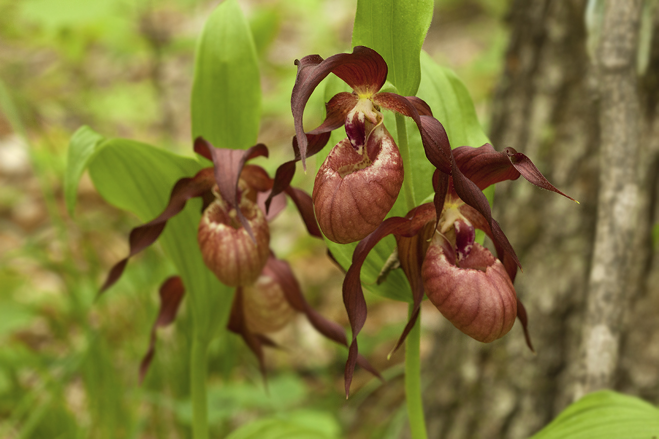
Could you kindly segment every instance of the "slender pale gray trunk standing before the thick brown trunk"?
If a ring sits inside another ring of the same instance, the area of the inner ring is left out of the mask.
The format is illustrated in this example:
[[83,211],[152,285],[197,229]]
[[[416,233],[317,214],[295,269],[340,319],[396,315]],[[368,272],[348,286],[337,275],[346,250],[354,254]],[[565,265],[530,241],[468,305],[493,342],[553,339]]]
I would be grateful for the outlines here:
[[638,226],[637,47],[643,0],[606,2],[595,70],[600,97],[600,191],[576,398],[611,388]]

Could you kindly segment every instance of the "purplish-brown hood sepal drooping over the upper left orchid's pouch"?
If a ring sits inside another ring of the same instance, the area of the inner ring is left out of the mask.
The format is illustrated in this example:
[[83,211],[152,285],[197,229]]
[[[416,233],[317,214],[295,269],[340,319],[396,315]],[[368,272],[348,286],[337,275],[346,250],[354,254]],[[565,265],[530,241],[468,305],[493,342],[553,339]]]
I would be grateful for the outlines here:
[[215,182],[219,193],[233,209],[236,209],[238,219],[254,240],[252,227],[238,208],[238,180],[245,162],[254,157],[268,157],[268,147],[258,143],[249,149],[216,148],[204,138],[198,137],[194,140],[194,151],[207,158],[210,155],[215,167]]

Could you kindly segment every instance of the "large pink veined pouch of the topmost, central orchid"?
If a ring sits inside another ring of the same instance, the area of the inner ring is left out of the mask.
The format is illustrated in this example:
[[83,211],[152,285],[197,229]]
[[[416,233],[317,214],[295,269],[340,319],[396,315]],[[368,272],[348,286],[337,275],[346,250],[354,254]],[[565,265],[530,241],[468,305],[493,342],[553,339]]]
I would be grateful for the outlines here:
[[314,210],[320,229],[333,242],[365,238],[391,210],[403,186],[403,160],[382,123],[358,153],[341,140],[316,174]]

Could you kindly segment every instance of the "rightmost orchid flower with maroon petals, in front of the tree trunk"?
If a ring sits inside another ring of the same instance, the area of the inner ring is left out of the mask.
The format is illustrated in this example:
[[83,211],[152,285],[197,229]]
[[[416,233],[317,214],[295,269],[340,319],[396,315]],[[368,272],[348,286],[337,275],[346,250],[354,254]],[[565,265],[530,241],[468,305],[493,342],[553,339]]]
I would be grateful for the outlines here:
[[[515,317],[519,317],[527,344],[532,349],[526,311],[513,287],[517,257],[507,251],[493,233],[490,224],[496,221],[487,219],[461,199],[460,192],[470,196],[472,202],[476,196],[472,195],[472,190],[465,190],[469,185],[460,180],[469,180],[480,192],[490,184],[515,180],[521,175],[540,188],[568,196],[552,186],[526,155],[512,148],[498,152],[490,144],[479,148],[459,147],[452,151],[450,163],[455,167],[450,176],[439,169],[435,172],[434,203],[420,205],[406,217],[384,220],[355,249],[353,263],[343,282],[343,301],[353,330],[345,368],[346,394],[358,354],[357,334],[366,321],[361,267],[374,245],[389,234],[396,238],[399,265],[413,294],[413,313],[395,349],[401,346],[415,324],[424,294],[456,328],[481,342],[501,338],[511,329]],[[475,228],[483,230],[493,240],[499,259],[474,243]]]

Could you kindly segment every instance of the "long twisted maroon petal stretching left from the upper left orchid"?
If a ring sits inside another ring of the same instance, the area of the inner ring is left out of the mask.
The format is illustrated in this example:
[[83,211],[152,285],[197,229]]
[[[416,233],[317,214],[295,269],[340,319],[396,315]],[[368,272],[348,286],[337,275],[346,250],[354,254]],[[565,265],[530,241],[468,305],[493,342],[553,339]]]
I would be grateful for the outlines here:
[[103,286],[101,286],[99,294],[103,293],[107,288],[110,288],[115,282],[117,282],[117,280],[119,280],[131,256],[136,255],[140,251],[146,249],[149,245],[156,242],[164,230],[167,220],[181,212],[188,199],[202,197],[208,194],[214,184],[213,168],[204,168],[197,172],[192,178],[186,177],[177,181],[174,188],[171,190],[169,203],[167,203],[167,207],[165,207],[163,213],[158,215],[156,219],[153,219],[146,224],[142,224],[130,231],[129,255],[124,259],[121,259],[121,261],[116,263],[110,269]]

